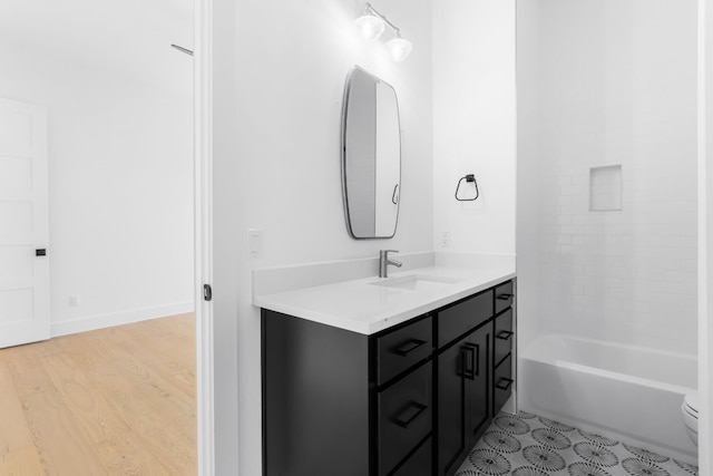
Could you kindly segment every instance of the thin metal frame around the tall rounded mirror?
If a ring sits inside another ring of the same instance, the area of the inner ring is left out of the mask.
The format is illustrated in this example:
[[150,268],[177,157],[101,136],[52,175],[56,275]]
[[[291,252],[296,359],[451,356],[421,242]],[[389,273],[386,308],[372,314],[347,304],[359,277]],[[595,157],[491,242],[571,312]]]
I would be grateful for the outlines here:
[[[374,230],[374,236],[356,236],[354,235],[354,232],[352,230],[352,223],[351,223],[351,216],[349,213],[349,193],[348,193],[348,185],[346,185],[346,124],[348,124],[348,110],[349,110],[349,96],[350,96],[350,90],[351,90],[351,86],[352,86],[352,78],[354,76],[354,74],[359,71],[361,74],[365,74],[367,76],[369,76],[370,78],[372,78],[374,80],[374,82],[377,85],[381,84],[387,86],[389,89],[391,89],[393,91],[393,97],[394,97],[394,103],[395,103],[395,107],[397,107],[397,123],[398,123],[398,129],[399,129],[399,188],[398,188],[398,194],[395,194],[397,198],[397,216],[394,218],[394,223],[393,223],[393,232],[390,235],[377,235],[377,232]],[[401,111],[399,109],[399,98],[397,96],[397,90],[394,89],[393,86],[391,86],[389,82],[382,80],[381,78],[379,78],[378,76],[369,72],[368,70],[365,70],[364,68],[362,68],[359,65],[354,65],[348,72],[346,75],[346,81],[344,82],[344,96],[342,99],[342,125],[341,125],[341,143],[340,143],[340,149],[341,149],[341,173],[342,173],[342,201],[344,204],[344,221],[346,224],[346,231],[349,232],[349,235],[353,239],[353,240],[389,240],[395,236],[397,234],[397,230],[399,227],[399,213],[401,211],[401,190],[402,190],[402,185],[401,185],[401,178],[402,178],[402,168],[403,168],[403,161],[402,161],[402,144],[401,144]]]

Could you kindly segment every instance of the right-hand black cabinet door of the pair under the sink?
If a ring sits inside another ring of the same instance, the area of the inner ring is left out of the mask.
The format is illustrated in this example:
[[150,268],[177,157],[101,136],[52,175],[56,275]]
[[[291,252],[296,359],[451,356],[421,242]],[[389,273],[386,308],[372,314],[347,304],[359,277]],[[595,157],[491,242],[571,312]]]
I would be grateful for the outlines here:
[[490,422],[490,346],[491,326],[475,331],[466,342],[467,356],[463,378],[466,380],[466,431],[468,448],[472,448]]

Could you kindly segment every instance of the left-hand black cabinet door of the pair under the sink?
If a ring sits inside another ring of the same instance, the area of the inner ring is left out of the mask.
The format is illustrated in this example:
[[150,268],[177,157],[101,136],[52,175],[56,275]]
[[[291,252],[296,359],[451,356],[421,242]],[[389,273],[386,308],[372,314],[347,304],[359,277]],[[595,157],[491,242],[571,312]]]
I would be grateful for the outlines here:
[[438,356],[438,475],[450,475],[470,450],[466,431],[468,379],[463,376],[472,349],[468,338]]

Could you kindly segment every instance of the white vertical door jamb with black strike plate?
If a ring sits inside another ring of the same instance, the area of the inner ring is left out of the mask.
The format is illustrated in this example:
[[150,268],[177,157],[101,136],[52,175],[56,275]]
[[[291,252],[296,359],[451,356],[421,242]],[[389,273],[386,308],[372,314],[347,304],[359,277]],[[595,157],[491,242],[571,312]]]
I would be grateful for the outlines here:
[[[194,1],[194,275],[197,474],[215,474],[213,304],[213,0]],[[237,475],[237,469],[236,473]]]

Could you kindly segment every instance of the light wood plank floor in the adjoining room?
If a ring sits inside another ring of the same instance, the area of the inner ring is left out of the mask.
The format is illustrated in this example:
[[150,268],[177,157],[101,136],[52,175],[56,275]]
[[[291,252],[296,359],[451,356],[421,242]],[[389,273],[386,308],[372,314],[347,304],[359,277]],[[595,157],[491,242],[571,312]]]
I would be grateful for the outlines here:
[[0,349],[0,475],[195,475],[194,315]]

